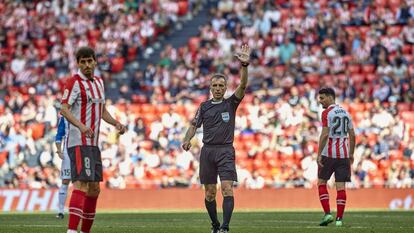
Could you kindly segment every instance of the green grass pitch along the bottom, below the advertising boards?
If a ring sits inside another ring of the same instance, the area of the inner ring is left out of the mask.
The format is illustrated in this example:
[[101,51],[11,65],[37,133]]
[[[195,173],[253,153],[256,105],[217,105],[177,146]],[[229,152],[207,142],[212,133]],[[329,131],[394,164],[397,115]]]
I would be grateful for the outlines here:
[[[0,232],[66,232],[67,216],[64,220],[54,216],[54,213],[2,213]],[[342,228],[334,223],[319,227],[321,218],[322,213],[315,211],[236,211],[230,230],[235,233],[414,232],[412,211],[350,211],[345,213]],[[201,211],[98,212],[92,232],[201,233],[210,232],[209,229],[208,215]]]

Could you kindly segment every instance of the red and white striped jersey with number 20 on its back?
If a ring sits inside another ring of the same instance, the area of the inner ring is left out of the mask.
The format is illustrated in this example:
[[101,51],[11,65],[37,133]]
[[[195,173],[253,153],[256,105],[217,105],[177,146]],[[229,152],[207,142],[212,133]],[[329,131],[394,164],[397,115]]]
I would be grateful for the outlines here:
[[332,104],[322,112],[322,126],[329,127],[328,142],[322,156],[349,158],[348,131],[354,127],[349,113],[341,106]]

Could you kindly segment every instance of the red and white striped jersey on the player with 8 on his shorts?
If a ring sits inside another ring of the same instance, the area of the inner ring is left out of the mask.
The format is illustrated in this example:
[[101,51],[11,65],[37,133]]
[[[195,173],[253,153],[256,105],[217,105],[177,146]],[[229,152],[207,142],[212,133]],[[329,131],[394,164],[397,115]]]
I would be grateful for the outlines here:
[[71,113],[86,127],[94,131],[94,138],[87,138],[78,127],[69,124],[66,145],[98,146],[99,126],[105,104],[105,89],[103,80],[97,76],[91,81],[81,72],[70,78],[63,92],[62,104],[71,106]]

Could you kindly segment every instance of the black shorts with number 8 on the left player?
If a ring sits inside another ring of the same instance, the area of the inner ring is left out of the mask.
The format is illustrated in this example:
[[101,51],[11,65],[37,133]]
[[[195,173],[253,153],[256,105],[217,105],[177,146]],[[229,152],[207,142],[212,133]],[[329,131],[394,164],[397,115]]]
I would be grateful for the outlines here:
[[72,181],[102,181],[101,151],[97,146],[68,148]]

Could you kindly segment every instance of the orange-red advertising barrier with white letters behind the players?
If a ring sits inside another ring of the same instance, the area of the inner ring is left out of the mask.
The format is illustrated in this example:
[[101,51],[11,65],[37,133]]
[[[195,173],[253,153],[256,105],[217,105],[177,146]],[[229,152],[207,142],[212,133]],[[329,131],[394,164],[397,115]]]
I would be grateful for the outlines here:
[[[336,208],[336,191],[329,190],[330,202]],[[221,194],[217,193],[221,202]],[[357,189],[347,191],[347,209],[413,210],[414,189]],[[237,209],[318,209],[316,189],[235,190]],[[68,198],[69,200],[69,198]],[[133,209],[204,209],[201,189],[114,190],[104,189],[98,208]],[[54,211],[58,190],[0,189],[0,211]],[[221,205],[218,205],[221,206]]]

